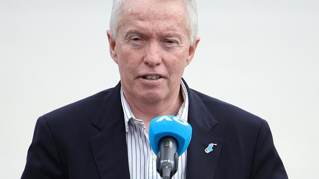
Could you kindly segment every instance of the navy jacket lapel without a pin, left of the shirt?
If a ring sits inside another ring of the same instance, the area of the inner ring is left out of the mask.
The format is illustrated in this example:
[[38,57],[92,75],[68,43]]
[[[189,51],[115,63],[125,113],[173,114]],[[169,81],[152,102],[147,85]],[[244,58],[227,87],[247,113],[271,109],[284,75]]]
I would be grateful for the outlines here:
[[110,91],[92,124],[101,131],[90,138],[102,179],[130,179],[120,83]]

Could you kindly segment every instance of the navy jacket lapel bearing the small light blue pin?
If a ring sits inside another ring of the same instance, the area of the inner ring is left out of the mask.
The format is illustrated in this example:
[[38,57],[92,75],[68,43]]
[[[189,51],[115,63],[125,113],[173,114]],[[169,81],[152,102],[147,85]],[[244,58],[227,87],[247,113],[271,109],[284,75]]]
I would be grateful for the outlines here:
[[[192,138],[187,148],[186,179],[213,179],[223,140],[212,133],[217,124],[213,114],[187,84],[186,89],[189,100],[187,121],[192,126]],[[205,149],[210,143],[216,146],[207,154]]]

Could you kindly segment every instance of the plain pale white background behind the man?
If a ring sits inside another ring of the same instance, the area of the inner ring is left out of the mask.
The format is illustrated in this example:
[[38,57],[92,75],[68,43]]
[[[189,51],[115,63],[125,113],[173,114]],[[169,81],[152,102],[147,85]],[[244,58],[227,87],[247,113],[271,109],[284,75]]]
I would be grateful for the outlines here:
[[[266,119],[290,179],[319,179],[319,1],[198,0],[188,85]],[[114,87],[110,0],[0,0],[0,178],[36,119]],[[236,147],[236,146],[234,146]]]

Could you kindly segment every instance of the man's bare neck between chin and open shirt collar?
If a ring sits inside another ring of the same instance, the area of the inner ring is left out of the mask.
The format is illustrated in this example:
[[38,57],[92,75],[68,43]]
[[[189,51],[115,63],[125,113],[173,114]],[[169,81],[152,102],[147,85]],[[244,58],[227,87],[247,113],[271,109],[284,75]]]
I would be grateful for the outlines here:
[[[125,91],[124,95],[125,95]],[[160,115],[177,115],[181,105],[184,101],[182,91],[179,90],[172,97],[157,102],[145,102],[138,101],[136,99],[126,96],[125,98],[130,105],[130,108],[134,116],[138,119],[142,119],[145,126],[146,132],[148,133],[148,128],[151,120]],[[169,105],[167,105],[169,104]]]

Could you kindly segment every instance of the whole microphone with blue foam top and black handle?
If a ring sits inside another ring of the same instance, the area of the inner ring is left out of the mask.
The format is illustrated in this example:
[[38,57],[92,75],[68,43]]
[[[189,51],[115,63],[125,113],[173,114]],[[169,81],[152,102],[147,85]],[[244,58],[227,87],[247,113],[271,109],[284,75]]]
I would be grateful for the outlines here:
[[151,120],[149,140],[162,179],[171,179],[176,173],[178,157],[187,149],[191,133],[191,126],[177,116],[161,115]]

